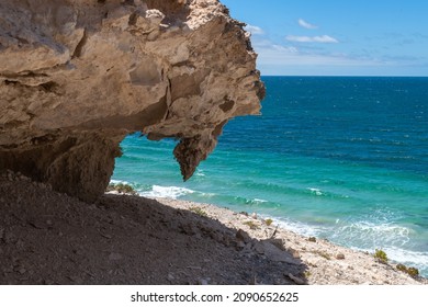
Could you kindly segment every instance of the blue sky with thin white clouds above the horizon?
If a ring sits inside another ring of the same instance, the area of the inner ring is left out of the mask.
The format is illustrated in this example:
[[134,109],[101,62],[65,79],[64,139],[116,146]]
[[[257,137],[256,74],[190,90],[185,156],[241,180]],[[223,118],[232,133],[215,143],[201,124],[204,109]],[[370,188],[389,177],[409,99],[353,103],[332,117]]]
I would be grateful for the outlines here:
[[428,76],[427,0],[221,0],[264,76]]

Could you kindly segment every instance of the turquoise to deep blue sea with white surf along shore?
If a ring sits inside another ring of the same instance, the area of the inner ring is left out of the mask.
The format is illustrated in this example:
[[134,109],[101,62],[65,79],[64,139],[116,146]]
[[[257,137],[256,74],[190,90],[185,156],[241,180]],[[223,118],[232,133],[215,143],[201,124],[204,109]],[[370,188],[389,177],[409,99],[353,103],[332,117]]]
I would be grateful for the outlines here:
[[113,180],[383,249],[428,276],[428,78],[262,79],[262,115],[230,121],[191,180],[174,140],[139,135],[122,143]]

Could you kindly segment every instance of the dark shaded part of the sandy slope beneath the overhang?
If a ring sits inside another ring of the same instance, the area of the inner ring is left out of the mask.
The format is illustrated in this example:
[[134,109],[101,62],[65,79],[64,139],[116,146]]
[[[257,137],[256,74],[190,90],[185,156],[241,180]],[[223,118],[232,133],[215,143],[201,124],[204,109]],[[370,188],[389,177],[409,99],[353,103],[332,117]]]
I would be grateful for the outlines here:
[[274,238],[139,196],[88,205],[20,184],[24,195],[0,184],[0,284],[307,283],[306,265]]

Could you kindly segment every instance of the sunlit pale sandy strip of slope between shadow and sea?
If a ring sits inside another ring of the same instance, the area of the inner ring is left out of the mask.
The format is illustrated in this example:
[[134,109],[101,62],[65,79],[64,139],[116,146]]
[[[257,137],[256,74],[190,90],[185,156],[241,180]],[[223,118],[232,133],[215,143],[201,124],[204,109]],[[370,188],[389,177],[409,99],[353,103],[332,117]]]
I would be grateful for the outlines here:
[[187,201],[168,198],[157,198],[157,201],[181,209],[200,208],[209,217],[219,220],[232,229],[243,229],[252,240],[273,239],[275,245],[279,243],[281,249],[303,263],[305,278],[302,280],[309,285],[428,284],[425,278],[415,280],[396,270],[397,263],[380,263],[373,254],[339,247],[326,239],[305,237],[280,228],[274,221],[268,226],[266,220],[258,218],[255,213],[247,215],[247,213],[235,213],[211,204]]

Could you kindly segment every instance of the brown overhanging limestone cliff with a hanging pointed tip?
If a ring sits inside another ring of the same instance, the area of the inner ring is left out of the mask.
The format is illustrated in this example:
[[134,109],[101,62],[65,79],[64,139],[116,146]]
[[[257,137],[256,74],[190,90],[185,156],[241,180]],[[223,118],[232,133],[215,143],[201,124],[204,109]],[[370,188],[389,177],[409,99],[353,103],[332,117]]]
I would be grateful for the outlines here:
[[217,0],[1,0],[0,170],[93,201],[129,133],[180,139],[184,180],[263,84]]

